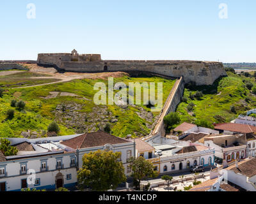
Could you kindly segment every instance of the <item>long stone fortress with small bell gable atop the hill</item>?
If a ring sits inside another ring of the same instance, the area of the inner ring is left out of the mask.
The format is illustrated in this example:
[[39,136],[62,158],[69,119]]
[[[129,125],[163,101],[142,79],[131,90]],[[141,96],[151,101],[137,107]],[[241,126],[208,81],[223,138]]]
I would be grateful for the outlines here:
[[227,75],[222,62],[102,60],[100,54],[78,54],[76,50],[71,54],[38,54],[37,64],[74,72],[138,71],[183,77],[184,82],[193,81],[196,85],[211,85],[217,78]]

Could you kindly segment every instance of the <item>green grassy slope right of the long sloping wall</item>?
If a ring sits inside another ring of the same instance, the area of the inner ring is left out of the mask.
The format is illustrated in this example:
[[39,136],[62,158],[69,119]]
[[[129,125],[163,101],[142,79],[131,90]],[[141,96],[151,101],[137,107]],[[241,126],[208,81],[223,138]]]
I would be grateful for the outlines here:
[[[255,108],[256,97],[246,87],[246,82],[255,85],[255,78],[228,72],[228,77],[216,80],[214,85],[187,87],[184,97],[188,98],[188,101],[180,103],[177,108],[181,122],[208,123],[206,126],[210,127],[213,122],[230,122],[240,113]],[[189,92],[195,94],[196,91],[202,91],[203,97],[190,99]],[[195,104],[192,112],[187,110],[189,103]],[[235,107],[235,112],[230,110],[231,106]]]

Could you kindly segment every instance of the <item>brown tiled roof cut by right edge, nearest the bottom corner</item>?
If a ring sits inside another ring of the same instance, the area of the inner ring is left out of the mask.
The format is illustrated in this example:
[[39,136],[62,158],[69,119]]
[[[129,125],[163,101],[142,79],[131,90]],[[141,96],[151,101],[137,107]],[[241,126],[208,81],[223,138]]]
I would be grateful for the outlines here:
[[253,177],[256,175],[256,158],[249,159],[238,163],[238,168],[236,168],[236,164],[229,166],[228,170],[234,171],[234,173],[241,173],[246,175],[246,177]]

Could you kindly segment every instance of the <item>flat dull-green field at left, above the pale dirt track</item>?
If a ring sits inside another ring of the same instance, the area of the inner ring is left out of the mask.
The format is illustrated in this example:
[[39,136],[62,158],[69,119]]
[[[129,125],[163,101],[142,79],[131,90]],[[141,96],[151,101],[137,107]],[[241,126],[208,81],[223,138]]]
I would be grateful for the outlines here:
[[[11,70],[15,71],[15,70]],[[20,71],[12,75],[0,76],[0,86],[6,88],[24,87],[29,85],[45,84],[58,82],[55,78],[30,78],[30,77],[49,77],[50,75],[32,73],[29,71]]]

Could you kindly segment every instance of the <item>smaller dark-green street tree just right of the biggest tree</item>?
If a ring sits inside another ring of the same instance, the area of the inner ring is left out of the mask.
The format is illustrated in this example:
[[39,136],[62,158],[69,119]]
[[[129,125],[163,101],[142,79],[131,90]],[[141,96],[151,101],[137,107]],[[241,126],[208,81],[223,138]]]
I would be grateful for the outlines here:
[[140,182],[142,179],[155,178],[158,175],[158,172],[154,170],[154,165],[144,157],[131,157],[128,160],[128,163],[130,163],[129,168],[132,171],[131,177],[134,180],[138,180],[136,189],[140,189]]

